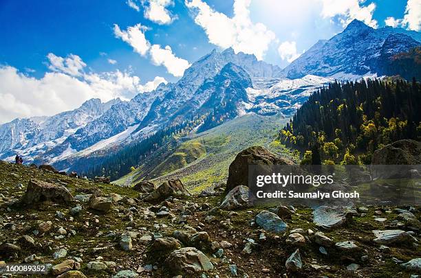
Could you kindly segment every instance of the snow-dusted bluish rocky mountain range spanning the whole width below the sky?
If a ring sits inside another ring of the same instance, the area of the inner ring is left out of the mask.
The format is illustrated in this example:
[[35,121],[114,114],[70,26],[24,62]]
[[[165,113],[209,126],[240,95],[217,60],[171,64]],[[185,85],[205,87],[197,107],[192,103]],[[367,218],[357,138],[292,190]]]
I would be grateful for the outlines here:
[[[178,82],[160,84],[129,102],[89,100],[74,111],[1,125],[0,159],[12,160],[18,153],[26,162],[83,170],[87,159],[100,163],[132,142],[193,118],[203,119],[197,126],[203,131],[248,113],[288,117],[334,79],[382,76],[393,56],[420,41],[419,32],[375,30],[352,21],[283,70],[231,48],[214,50],[186,69]],[[218,119],[208,126],[209,115]]]

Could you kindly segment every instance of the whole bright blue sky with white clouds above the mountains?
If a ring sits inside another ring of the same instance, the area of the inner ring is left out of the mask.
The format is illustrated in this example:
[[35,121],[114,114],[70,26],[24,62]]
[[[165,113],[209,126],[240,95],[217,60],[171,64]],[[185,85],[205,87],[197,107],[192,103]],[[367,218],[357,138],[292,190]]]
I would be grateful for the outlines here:
[[[373,27],[386,20],[419,31],[420,5],[420,0],[2,0],[0,123],[53,115],[91,97],[128,100],[160,82],[175,82],[212,49],[233,47],[285,67],[355,18]],[[43,104],[45,97],[52,100]]]

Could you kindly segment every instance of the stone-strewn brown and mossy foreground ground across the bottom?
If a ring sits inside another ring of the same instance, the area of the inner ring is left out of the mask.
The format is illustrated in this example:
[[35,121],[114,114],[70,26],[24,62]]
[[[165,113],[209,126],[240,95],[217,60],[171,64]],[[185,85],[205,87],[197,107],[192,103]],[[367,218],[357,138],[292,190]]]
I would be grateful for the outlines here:
[[118,187],[42,168],[0,161],[0,267],[49,264],[50,277],[421,274],[420,207],[249,207],[242,185],[192,196],[178,180]]

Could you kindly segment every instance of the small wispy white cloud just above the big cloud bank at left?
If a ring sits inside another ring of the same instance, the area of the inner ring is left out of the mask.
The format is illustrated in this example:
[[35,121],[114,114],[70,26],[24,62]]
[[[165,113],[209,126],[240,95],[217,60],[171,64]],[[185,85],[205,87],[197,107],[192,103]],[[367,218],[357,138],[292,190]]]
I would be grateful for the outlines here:
[[70,76],[81,76],[83,68],[86,67],[85,62],[74,54],[70,54],[67,58],[62,58],[49,53],[47,58],[50,60],[49,69],[52,71],[62,71]]

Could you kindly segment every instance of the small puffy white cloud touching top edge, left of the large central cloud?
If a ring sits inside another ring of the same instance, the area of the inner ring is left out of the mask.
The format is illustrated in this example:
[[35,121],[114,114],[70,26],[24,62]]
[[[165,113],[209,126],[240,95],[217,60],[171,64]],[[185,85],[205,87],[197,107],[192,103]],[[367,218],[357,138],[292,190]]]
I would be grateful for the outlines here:
[[176,17],[166,9],[169,5],[174,5],[173,0],[147,0],[144,3],[144,17],[160,25],[170,24]]

